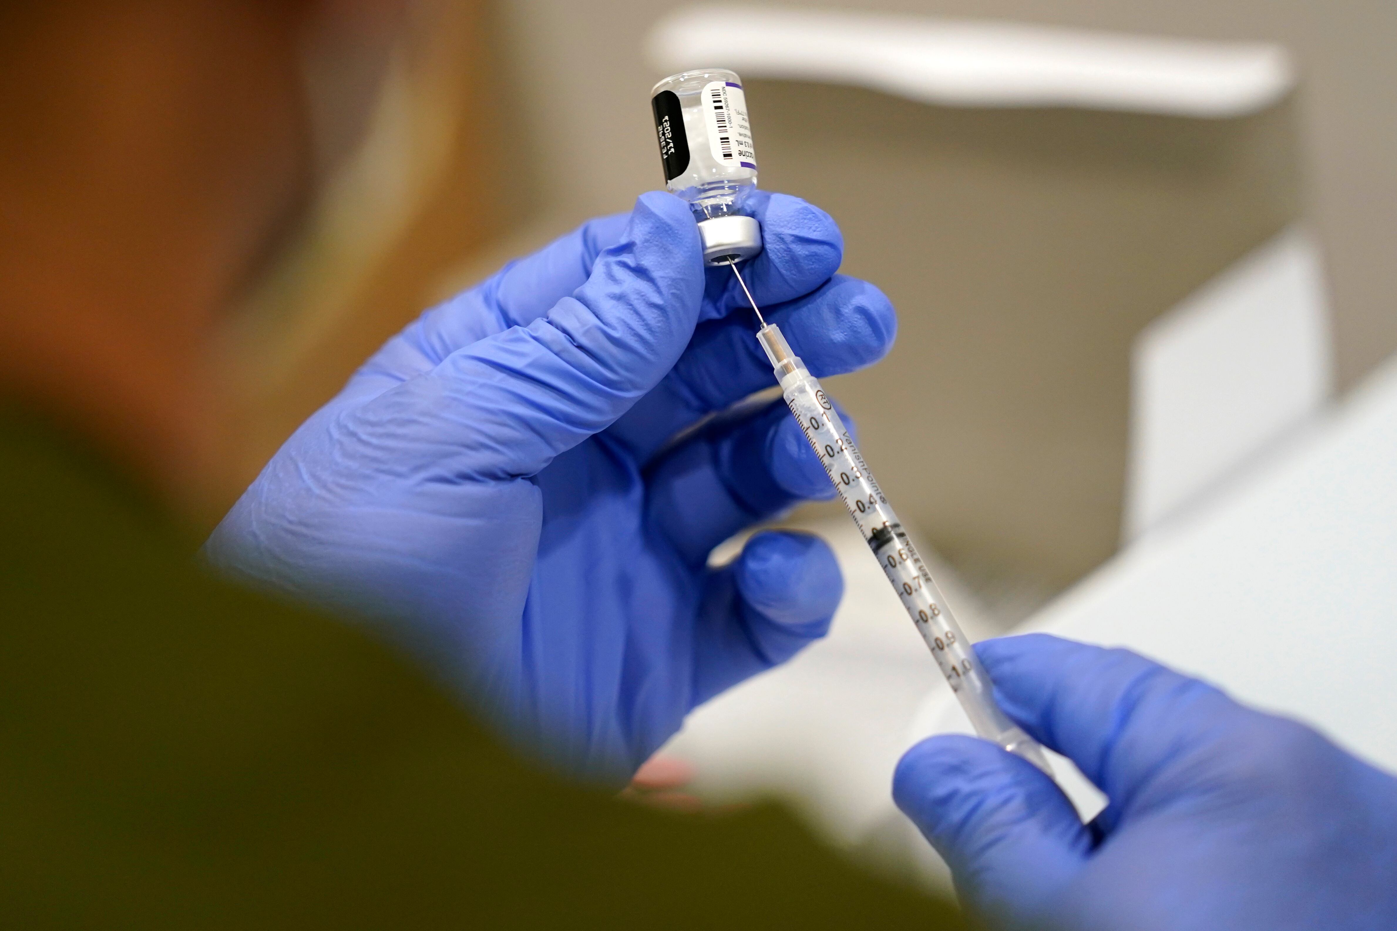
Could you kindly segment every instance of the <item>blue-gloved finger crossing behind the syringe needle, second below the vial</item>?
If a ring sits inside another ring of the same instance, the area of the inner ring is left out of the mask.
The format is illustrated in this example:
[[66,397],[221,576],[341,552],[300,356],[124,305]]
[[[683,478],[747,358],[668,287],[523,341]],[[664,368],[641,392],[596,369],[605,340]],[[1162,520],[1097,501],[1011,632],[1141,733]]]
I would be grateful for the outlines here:
[[[893,348],[897,314],[873,285],[835,275],[813,295],[770,308],[816,377],[870,366]],[[775,384],[754,335],[756,318],[700,324],[673,371],[608,431],[645,461],[671,437],[715,410]]]

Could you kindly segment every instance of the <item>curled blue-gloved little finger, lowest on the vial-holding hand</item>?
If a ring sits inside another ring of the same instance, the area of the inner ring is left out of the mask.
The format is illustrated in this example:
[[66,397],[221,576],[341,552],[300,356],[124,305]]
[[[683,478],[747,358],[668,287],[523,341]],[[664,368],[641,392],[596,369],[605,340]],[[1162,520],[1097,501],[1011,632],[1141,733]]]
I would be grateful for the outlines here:
[[844,576],[824,540],[784,530],[753,536],[708,576],[694,631],[694,705],[824,636],[842,596]]

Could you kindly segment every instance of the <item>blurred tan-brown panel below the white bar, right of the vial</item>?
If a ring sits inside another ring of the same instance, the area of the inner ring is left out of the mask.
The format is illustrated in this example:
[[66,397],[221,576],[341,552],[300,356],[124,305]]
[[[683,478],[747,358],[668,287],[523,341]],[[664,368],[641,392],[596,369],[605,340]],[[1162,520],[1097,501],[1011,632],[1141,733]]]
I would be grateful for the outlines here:
[[750,81],[763,187],[838,219],[897,348],[831,380],[902,518],[971,575],[1115,551],[1129,346],[1299,212],[1292,105],[1239,120],[953,110]]

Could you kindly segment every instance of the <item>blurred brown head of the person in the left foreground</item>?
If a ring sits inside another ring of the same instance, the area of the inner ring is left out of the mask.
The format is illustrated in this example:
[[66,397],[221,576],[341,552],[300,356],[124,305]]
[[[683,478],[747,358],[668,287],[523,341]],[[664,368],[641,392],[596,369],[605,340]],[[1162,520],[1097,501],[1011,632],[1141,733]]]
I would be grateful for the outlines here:
[[411,1],[0,3],[0,392],[166,486],[217,458],[208,341]]

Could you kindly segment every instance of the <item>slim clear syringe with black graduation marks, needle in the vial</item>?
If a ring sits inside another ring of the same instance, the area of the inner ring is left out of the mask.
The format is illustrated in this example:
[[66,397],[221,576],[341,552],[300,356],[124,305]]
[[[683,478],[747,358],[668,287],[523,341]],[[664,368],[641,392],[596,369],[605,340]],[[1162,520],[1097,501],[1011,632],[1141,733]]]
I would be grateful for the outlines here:
[[738,276],[743,293],[752,303],[761,329],[757,331],[757,342],[767,352],[777,381],[781,382],[781,392],[792,416],[799,422],[805,438],[820,456],[820,465],[838,491],[844,507],[849,509],[849,516],[858,525],[859,533],[868,540],[873,556],[883,565],[883,574],[893,583],[897,596],[902,600],[908,617],[916,625],[916,631],[926,641],[936,664],[950,684],[956,698],[960,699],[965,716],[975,727],[975,733],[999,744],[1011,754],[1018,754],[1041,770],[1052,776],[1052,766],[1032,737],[1014,724],[1000,710],[995,701],[993,683],[979,667],[970,639],[956,623],[951,609],[946,604],[946,597],[930,572],[916,554],[916,547],[908,539],[902,523],[893,514],[883,490],[873,480],[868,463],[854,444],[834,405],[824,394],[819,380],[806,370],[800,357],[791,352],[791,345],[775,324],[768,324],[761,317],[761,310],[752,300],[752,292],[742,279],[735,261],[728,261],[732,274]]

